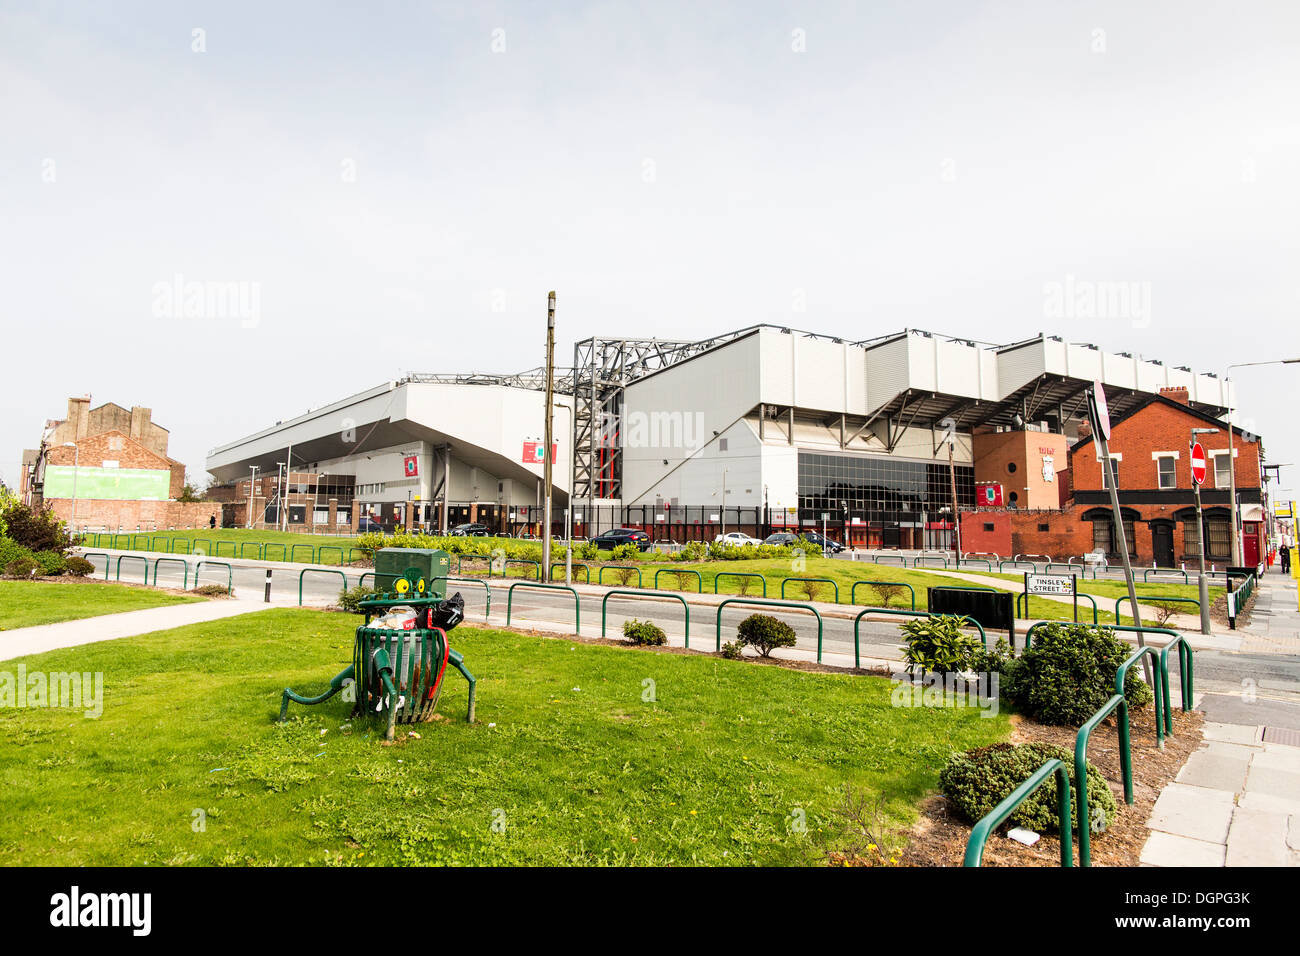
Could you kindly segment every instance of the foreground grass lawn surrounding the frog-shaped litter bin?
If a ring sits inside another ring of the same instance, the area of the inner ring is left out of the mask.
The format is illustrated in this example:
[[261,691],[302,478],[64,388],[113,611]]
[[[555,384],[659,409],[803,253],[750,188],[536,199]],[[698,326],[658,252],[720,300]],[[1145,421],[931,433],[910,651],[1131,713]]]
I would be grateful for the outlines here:
[[910,822],[952,750],[1009,734],[880,678],[469,627],[474,726],[450,671],[420,739],[338,697],[274,723],[355,626],[282,609],[26,658],[103,671],[104,710],[0,710],[0,865],[815,862],[845,784]]

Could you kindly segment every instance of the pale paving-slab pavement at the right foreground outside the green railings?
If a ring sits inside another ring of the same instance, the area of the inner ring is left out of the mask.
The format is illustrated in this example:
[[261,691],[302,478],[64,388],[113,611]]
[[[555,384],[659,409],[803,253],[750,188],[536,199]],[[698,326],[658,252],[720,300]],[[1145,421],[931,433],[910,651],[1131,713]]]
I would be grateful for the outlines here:
[[1261,687],[1252,663],[1300,667],[1296,601],[1295,579],[1264,576],[1242,628],[1247,666],[1234,692],[1196,696],[1205,739],[1152,808],[1144,866],[1300,866],[1300,700]]

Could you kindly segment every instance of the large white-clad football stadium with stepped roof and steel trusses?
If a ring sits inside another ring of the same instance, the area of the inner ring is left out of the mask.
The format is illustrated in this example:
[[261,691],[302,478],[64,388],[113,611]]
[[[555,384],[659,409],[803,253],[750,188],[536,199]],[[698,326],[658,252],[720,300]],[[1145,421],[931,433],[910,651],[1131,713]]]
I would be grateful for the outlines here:
[[[556,523],[572,485],[577,520],[592,515],[580,533],[641,523],[650,507],[671,524],[692,507],[703,516],[688,520],[708,524],[723,505],[797,509],[806,524],[827,507],[811,494],[827,475],[874,489],[840,502],[846,519],[898,523],[927,507],[927,468],[933,485],[941,466],[945,489],[930,497],[950,502],[949,433],[965,506],[972,428],[1045,423],[1072,437],[1093,380],[1113,415],[1174,386],[1213,415],[1231,405],[1231,382],[1214,375],[1041,334],[992,345],[905,329],[853,342],[755,325],[697,342],[585,339],[555,377]],[[438,525],[443,502],[462,518],[478,503],[502,529],[536,523],[542,466],[523,447],[542,436],[543,385],[541,369],[408,375],[216,447],[207,470],[220,483],[252,466],[274,473],[291,447],[295,471],[355,476],[363,507],[424,502]],[[411,455],[419,475],[407,479]]]

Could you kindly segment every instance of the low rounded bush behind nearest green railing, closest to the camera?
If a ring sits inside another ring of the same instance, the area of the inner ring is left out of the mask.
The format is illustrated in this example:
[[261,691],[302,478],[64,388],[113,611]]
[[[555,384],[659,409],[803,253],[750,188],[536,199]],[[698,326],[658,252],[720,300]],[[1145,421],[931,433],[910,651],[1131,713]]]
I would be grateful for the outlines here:
[[[966,822],[975,823],[1053,757],[1063,762],[1070,774],[1070,818],[1078,826],[1079,787],[1074,777],[1074,757],[1065,748],[1053,744],[993,744],[954,753],[939,774],[939,790]],[[1101,771],[1092,763],[1087,765],[1087,771],[1088,813],[1093,819],[1093,832],[1100,832],[1115,822],[1119,808]],[[1054,774],[1015,809],[1008,825],[1023,826],[1039,834],[1060,831]]]

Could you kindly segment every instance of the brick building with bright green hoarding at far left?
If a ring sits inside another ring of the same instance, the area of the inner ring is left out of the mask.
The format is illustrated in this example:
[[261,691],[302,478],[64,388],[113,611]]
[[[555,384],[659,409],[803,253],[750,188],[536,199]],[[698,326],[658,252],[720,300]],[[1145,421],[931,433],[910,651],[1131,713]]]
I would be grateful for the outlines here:
[[69,398],[68,418],[47,421],[40,447],[23,453],[20,494],[77,529],[205,527],[214,506],[177,501],[185,466],[168,438],[148,408]]

